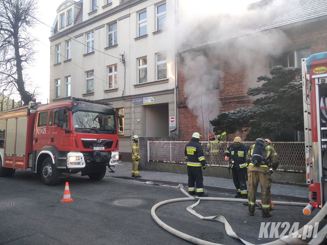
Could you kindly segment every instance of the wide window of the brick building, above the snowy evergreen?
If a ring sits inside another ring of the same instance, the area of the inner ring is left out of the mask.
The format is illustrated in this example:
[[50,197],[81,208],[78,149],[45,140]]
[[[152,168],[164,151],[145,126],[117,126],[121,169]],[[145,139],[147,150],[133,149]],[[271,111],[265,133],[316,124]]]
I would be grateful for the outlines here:
[[278,65],[284,67],[301,67],[302,58],[307,58],[310,55],[310,48],[304,48],[284,53],[279,57],[268,57],[268,72]]

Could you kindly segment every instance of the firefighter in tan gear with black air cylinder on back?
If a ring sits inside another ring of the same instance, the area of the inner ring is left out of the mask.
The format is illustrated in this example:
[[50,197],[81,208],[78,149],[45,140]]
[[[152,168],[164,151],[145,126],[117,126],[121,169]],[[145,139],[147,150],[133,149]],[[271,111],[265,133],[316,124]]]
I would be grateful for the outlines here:
[[255,144],[249,149],[247,162],[249,163],[249,214],[250,216],[254,215],[255,198],[260,182],[262,217],[269,218],[272,216],[270,209],[271,205],[273,205],[270,200],[270,174],[273,173],[279,165],[279,157],[276,150],[271,145],[270,139],[256,139]]

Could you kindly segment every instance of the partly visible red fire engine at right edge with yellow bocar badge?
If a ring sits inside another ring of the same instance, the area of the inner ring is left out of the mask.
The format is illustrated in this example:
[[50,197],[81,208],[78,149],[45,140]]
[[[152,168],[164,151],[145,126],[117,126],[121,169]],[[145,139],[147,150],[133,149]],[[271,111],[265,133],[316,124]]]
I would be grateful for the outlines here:
[[309,215],[327,201],[327,52],[302,59],[302,88]]

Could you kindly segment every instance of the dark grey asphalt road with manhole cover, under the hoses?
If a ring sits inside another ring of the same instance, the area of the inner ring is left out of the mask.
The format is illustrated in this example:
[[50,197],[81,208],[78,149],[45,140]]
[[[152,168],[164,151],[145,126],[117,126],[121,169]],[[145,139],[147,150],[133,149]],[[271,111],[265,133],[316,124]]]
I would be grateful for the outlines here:
[[[66,180],[74,199],[71,203],[60,202]],[[30,171],[0,178],[0,244],[191,244],[165,231],[150,215],[156,203],[185,197],[178,188],[108,177],[91,181],[78,174],[66,180],[49,187],[33,179]],[[217,191],[209,194],[231,196]],[[222,223],[190,214],[186,207],[193,203],[167,204],[156,214],[188,235],[215,243],[243,244],[228,237]],[[258,239],[261,222],[300,222],[301,227],[318,212],[304,216],[301,207],[276,205],[275,209],[273,217],[263,219],[259,208],[250,217],[241,203],[201,201],[195,208],[203,216],[225,216],[239,237],[255,244],[274,240]],[[325,220],[319,229],[324,224]]]

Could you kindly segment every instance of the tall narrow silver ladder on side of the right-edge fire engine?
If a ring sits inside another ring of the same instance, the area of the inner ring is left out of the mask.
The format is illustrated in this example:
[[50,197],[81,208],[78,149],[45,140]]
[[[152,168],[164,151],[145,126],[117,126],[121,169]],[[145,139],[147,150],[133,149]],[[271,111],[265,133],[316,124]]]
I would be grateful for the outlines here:
[[[305,144],[305,172],[306,183],[313,183],[312,169],[312,131],[311,131],[311,107],[310,107],[310,77],[306,76],[305,58],[302,59],[302,95],[303,95],[303,118],[304,118],[304,144]],[[309,76],[309,75],[308,75]]]

